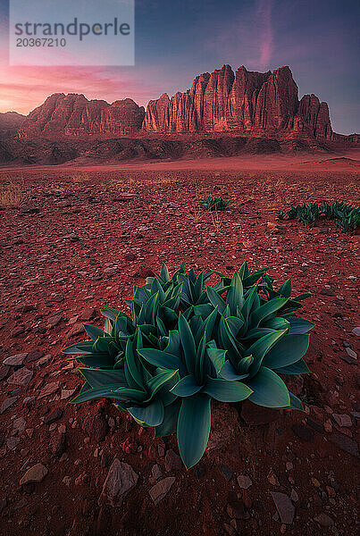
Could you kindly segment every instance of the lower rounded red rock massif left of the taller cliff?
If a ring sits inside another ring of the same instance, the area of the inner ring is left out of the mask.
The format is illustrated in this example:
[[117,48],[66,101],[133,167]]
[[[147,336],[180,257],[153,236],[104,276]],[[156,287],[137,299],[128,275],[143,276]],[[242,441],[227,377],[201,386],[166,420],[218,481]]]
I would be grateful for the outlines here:
[[145,116],[143,106],[130,98],[109,105],[83,95],[55,93],[26,117],[19,138],[87,138],[138,133]]

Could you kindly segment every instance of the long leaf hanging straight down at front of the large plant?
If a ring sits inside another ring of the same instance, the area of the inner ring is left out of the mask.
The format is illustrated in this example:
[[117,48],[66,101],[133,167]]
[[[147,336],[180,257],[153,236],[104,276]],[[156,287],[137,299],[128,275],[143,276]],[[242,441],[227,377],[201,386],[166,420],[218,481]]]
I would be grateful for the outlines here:
[[197,393],[183,398],[178,418],[180,456],[189,469],[205,452],[211,425],[211,398]]

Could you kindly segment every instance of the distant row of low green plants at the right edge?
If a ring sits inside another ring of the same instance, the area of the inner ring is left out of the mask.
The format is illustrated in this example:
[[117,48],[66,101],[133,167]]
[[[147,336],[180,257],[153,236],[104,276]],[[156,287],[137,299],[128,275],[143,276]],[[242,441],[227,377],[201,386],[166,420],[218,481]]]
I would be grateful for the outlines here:
[[[282,211],[279,211],[279,213]],[[278,217],[279,217],[278,213]],[[343,201],[334,203],[310,203],[306,205],[291,205],[287,212],[289,220],[298,220],[313,227],[321,215],[329,220],[334,220],[335,224],[345,233],[352,234],[360,227],[360,208],[354,205],[346,205]],[[283,219],[283,218],[279,218]]]

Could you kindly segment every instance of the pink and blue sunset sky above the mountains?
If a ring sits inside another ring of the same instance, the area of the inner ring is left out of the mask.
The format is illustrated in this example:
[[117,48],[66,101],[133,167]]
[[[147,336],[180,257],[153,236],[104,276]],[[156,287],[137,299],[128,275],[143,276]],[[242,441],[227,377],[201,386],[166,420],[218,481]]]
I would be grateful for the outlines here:
[[289,65],[299,97],[314,93],[326,101],[335,131],[358,131],[354,3],[171,4],[136,1],[134,67],[11,67],[8,2],[0,0],[0,112],[27,114],[53,93],[80,93],[109,103],[130,97],[147,106],[163,93],[185,91],[198,74],[224,63],[234,71],[240,65],[249,71]]

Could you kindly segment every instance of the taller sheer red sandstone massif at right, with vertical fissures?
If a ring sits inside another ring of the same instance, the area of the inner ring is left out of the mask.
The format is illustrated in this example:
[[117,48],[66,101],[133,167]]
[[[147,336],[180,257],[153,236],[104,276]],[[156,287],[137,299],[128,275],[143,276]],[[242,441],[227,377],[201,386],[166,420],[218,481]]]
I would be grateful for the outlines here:
[[150,101],[147,132],[228,132],[245,135],[306,135],[331,138],[326,103],[312,95],[297,97],[289,67],[251,72],[230,65],[198,76],[185,93]]

